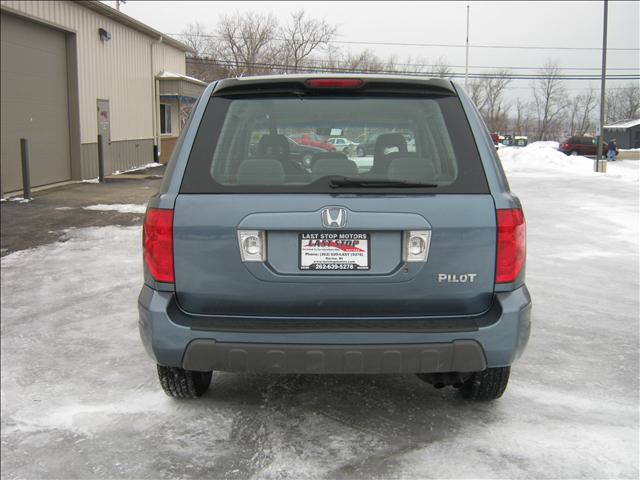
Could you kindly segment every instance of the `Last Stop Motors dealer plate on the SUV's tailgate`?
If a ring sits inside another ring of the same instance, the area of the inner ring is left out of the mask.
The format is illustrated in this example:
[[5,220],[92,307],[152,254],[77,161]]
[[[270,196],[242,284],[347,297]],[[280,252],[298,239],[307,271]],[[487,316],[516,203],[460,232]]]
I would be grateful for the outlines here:
[[298,236],[300,270],[369,270],[371,234],[305,232]]

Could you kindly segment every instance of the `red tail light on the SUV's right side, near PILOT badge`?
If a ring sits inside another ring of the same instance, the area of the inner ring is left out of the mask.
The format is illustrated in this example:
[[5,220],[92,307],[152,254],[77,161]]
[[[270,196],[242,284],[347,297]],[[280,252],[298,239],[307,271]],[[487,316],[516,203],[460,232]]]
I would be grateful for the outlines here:
[[526,251],[525,221],[522,210],[497,210],[498,247],[496,255],[496,283],[511,283],[518,278],[524,265]]

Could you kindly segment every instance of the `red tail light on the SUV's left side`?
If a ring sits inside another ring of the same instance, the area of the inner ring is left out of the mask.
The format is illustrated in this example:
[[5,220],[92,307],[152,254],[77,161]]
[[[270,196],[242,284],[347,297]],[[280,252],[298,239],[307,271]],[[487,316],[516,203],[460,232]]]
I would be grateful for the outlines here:
[[174,283],[173,210],[149,208],[142,233],[144,262],[157,282]]

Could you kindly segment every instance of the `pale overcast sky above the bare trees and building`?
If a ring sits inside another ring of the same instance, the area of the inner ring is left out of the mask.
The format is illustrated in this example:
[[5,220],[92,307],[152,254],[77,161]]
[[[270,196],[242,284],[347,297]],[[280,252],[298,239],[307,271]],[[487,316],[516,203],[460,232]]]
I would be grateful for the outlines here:
[[[105,2],[114,6],[114,1]],[[602,46],[603,2],[469,2],[471,45],[502,45],[532,47],[592,47]],[[338,26],[341,42],[395,43],[465,43],[467,2],[149,2],[129,0],[122,12],[164,33],[180,33],[189,23],[198,21],[213,29],[218,18],[234,12],[272,12],[285,21],[294,10],[303,8],[309,14],[323,17]],[[640,2],[610,1],[608,46],[640,48]],[[416,60],[444,57],[464,72],[465,49],[455,47],[412,47],[392,45],[361,45],[339,43],[340,48],[373,50],[380,56],[397,54],[403,62],[411,56]],[[470,72],[487,72],[479,67],[542,66],[547,58],[557,60],[561,67],[584,68],[564,73],[599,73],[599,50],[536,50],[513,48],[470,49]],[[640,52],[609,50],[609,74],[640,71]],[[625,68],[628,70],[614,70]],[[514,73],[526,70],[513,69]],[[627,83],[625,81],[624,83]],[[512,95],[530,90],[529,80],[511,83]],[[599,81],[567,81],[571,93]],[[622,82],[610,80],[610,86]]]

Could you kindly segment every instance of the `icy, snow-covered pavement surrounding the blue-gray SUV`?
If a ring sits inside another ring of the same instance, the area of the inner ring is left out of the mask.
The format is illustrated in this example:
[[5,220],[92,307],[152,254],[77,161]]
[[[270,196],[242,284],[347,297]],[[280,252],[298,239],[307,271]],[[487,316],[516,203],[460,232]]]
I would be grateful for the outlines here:
[[637,168],[549,155],[505,159],[534,326],[489,404],[412,375],[219,374],[172,400],[138,337],[140,228],[3,257],[2,477],[638,478]]

